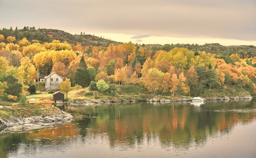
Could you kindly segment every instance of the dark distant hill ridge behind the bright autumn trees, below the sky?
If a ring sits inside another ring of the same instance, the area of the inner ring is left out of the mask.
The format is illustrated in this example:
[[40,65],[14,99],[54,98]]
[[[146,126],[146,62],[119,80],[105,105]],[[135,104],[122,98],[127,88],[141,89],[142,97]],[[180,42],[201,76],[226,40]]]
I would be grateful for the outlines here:
[[[81,32],[82,33],[82,32]],[[122,44],[121,42],[116,42],[113,40],[108,40],[102,37],[93,36],[90,34],[70,34],[58,29],[35,29],[35,27],[24,27],[23,29],[0,29],[0,34],[3,34],[5,37],[15,36],[16,40],[20,40],[23,37],[26,37],[30,42],[32,40],[39,40],[40,43],[52,42],[52,40],[60,40],[61,42],[67,41],[70,44],[81,43],[82,46],[105,46],[108,47],[110,43],[114,45]],[[4,41],[6,42],[6,41]],[[127,41],[128,42],[128,41]],[[136,44],[137,45],[137,44]],[[142,45],[144,46],[144,44]],[[169,52],[171,49],[178,48],[187,48],[193,52],[209,52],[212,54],[218,55],[218,58],[224,58],[228,63],[230,63],[227,56],[232,54],[239,54],[244,57],[249,55],[250,57],[256,57],[256,46],[222,46],[219,43],[206,43],[204,45],[198,44],[146,44],[146,48],[151,50],[164,50]]]

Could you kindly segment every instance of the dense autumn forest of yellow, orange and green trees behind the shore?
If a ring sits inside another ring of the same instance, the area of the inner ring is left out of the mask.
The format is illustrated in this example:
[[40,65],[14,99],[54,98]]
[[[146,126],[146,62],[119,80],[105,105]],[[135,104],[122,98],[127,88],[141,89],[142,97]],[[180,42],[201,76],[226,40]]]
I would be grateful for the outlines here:
[[33,80],[51,72],[66,78],[67,85],[89,86],[90,91],[111,96],[118,95],[116,85],[143,86],[153,95],[200,96],[207,89],[223,91],[230,86],[256,93],[255,46],[131,42],[83,46],[78,41],[61,42],[52,34],[21,36],[21,30],[0,30],[2,100],[29,95]]

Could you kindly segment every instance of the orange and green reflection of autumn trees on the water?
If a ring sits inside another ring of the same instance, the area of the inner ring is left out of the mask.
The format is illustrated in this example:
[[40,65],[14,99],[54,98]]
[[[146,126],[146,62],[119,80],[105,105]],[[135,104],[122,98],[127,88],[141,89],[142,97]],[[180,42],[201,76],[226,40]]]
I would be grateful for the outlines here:
[[188,150],[204,147],[219,135],[228,135],[238,123],[256,120],[255,101],[207,102],[199,106],[191,103],[64,106],[64,110],[77,120],[50,129],[1,134],[0,157],[37,155],[35,151],[40,154],[47,150],[55,153],[58,147],[65,152],[70,146],[84,147],[91,141],[107,144],[110,149],[140,150],[138,146],[154,143],[166,151],[170,147]]

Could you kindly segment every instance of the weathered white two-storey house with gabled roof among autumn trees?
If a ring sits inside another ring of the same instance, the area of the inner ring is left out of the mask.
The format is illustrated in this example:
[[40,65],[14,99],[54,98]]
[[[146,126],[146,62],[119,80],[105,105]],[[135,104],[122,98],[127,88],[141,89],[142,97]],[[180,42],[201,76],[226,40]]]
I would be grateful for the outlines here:
[[44,77],[45,79],[45,88],[47,91],[58,90],[59,84],[63,81],[63,78],[55,72],[52,72],[50,75]]

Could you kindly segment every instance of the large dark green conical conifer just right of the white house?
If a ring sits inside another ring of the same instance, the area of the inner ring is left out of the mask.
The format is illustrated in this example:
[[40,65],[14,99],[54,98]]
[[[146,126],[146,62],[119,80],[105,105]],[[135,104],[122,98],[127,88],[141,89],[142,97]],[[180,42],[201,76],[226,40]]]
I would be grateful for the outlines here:
[[76,69],[74,83],[82,87],[90,85],[90,73],[87,70],[87,64],[84,61],[84,57],[81,57],[79,68]]

